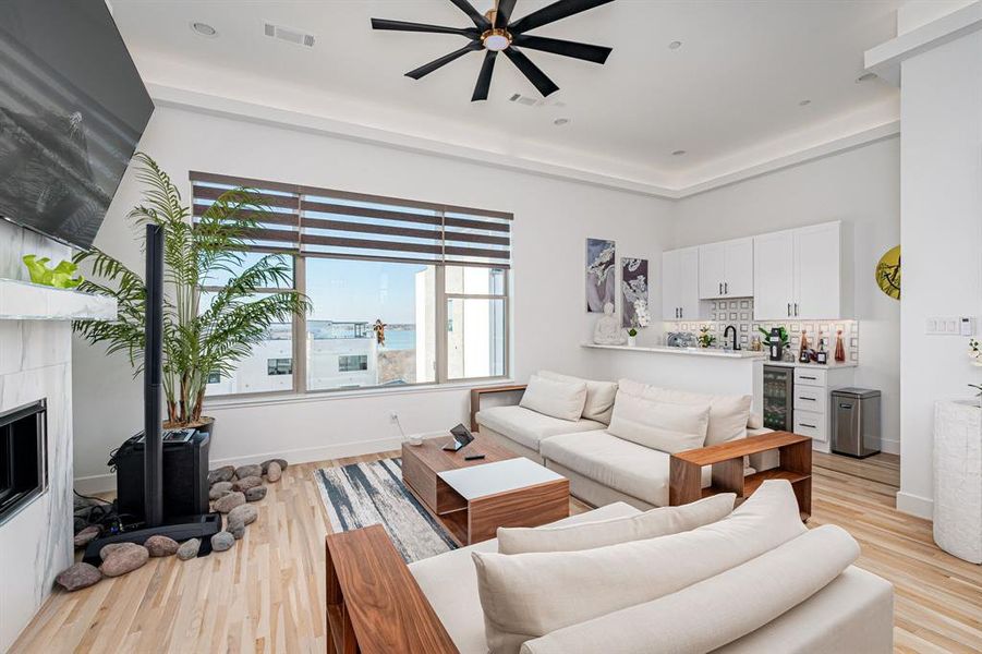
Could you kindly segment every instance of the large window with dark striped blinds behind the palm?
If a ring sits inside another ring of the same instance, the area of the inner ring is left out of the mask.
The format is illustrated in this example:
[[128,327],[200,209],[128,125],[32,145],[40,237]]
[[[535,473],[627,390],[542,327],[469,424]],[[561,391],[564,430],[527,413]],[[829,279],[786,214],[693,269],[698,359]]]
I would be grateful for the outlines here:
[[[510,215],[205,173],[192,182],[195,215],[229,187],[259,190],[270,213],[257,217],[246,265],[286,253],[313,305],[272,326],[232,375],[209,377],[209,395],[508,374]],[[227,279],[209,280],[203,307]]]

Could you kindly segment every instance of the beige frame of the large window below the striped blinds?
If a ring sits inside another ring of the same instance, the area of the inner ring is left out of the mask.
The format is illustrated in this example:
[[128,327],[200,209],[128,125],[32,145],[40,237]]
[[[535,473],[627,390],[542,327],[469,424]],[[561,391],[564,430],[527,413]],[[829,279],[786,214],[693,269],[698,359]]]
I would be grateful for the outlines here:
[[[255,251],[250,251],[255,252]],[[267,254],[269,254],[267,252]],[[290,257],[293,259],[293,290],[296,290],[301,293],[306,292],[306,259],[308,258],[339,258],[331,256],[322,256],[316,254],[308,253],[296,253],[296,252],[282,252],[282,253],[274,253],[281,254],[284,257]],[[372,257],[364,257],[362,261],[376,261]],[[476,267],[488,268],[493,270],[501,270],[505,279],[502,280],[502,293],[501,294],[484,294],[484,293],[450,293],[447,292],[447,267],[460,267],[459,263],[427,263],[425,265],[429,265],[434,267],[435,280],[434,280],[434,291],[435,291],[435,311],[434,311],[434,320],[436,323],[436,379],[433,382],[414,382],[411,384],[400,384],[398,386],[386,386],[384,384],[376,384],[373,386],[360,386],[357,388],[348,388],[348,387],[338,387],[338,388],[307,388],[307,317],[306,315],[293,316],[293,374],[292,374],[292,385],[291,388],[283,390],[260,390],[254,392],[232,392],[232,393],[221,393],[221,395],[206,395],[205,401],[214,401],[214,400],[234,400],[234,399],[250,399],[250,398],[266,398],[266,397],[288,397],[288,396],[316,396],[322,393],[339,393],[339,392],[351,392],[351,391],[381,391],[386,390],[405,390],[407,388],[433,388],[439,386],[460,386],[462,384],[487,384],[495,382],[502,382],[510,378],[511,375],[511,267],[510,266],[485,266],[480,265]],[[466,266],[466,265],[464,265]],[[215,286],[206,286],[201,287],[199,292],[216,292],[220,290],[221,287]],[[256,294],[264,293],[276,293],[282,291],[283,289],[277,288],[263,288],[256,289]],[[447,305],[448,301],[451,299],[460,299],[460,300],[502,300],[505,307],[505,316],[504,316],[504,325],[505,325],[505,361],[504,361],[504,372],[500,375],[492,375],[486,377],[450,377],[449,376],[449,362],[448,362],[448,315],[447,315]]]

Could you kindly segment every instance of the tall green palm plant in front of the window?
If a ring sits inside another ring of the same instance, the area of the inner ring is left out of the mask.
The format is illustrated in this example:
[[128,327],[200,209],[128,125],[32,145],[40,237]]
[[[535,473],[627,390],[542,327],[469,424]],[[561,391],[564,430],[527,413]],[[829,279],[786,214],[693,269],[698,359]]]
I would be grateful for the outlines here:
[[[149,156],[137,153],[137,179],[147,186],[144,203],[129,214],[137,226],[163,229],[165,302],[162,387],[168,426],[202,425],[208,375],[227,376],[252,353],[270,325],[310,311],[306,295],[292,289],[291,268],[281,254],[246,265],[254,216],[268,213],[248,189],[232,189],[192,220],[181,193]],[[78,290],[117,300],[116,320],[76,320],[72,327],[90,343],[123,352],[143,370],[146,287],[143,278],[109,254],[93,249],[74,257],[93,271]],[[203,287],[227,277],[210,303],[202,306]],[[96,278],[98,280],[96,280]],[[263,289],[282,289],[263,292]]]

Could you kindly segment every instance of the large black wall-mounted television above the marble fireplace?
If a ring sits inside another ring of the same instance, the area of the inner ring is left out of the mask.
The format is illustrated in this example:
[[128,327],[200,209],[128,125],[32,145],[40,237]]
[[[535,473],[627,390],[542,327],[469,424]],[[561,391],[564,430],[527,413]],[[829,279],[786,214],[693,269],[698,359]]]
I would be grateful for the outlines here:
[[0,1],[0,217],[92,246],[153,111],[102,0]]

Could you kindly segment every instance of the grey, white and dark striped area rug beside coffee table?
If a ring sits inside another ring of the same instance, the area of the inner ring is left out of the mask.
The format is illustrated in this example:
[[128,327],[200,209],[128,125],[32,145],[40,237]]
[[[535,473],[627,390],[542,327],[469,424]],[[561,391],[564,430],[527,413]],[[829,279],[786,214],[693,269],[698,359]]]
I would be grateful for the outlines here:
[[408,564],[457,549],[402,483],[401,459],[320,468],[314,476],[336,532],[381,524]]

